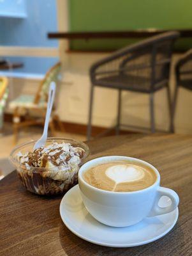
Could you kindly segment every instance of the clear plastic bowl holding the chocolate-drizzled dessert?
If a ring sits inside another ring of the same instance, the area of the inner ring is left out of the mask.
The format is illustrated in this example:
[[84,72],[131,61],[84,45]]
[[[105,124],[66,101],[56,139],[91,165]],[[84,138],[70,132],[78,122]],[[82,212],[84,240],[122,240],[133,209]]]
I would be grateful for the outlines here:
[[17,154],[18,152],[24,154],[33,151],[36,140],[18,145],[10,154],[10,160],[17,169],[18,177],[24,187],[32,193],[38,195],[57,195],[65,193],[68,189],[77,184],[78,170],[80,166],[85,163],[85,160],[89,155],[89,147],[81,141],[53,137],[47,139],[45,146],[48,146],[53,142],[70,143],[73,147],[83,148],[85,155],[82,157],[79,164],[70,163],[65,166],[54,166],[54,168],[26,167],[25,164],[19,163]]

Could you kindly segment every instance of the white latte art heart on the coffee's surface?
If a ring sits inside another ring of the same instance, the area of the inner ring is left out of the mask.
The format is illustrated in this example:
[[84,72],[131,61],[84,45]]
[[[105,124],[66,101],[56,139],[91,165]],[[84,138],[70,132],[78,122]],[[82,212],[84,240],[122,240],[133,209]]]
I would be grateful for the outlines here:
[[105,174],[114,180],[115,184],[132,182],[144,177],[144,170],[139,166],[119,164],[107,168]]

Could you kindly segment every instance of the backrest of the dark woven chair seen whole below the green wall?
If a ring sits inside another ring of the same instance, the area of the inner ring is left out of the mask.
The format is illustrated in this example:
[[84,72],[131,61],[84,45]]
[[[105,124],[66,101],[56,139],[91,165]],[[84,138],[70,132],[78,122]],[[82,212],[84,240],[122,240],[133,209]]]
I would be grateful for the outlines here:
[[161,33],[114,52],[92,65],[92,83],[96,84],[97,79],[115,74],[148,78],[144,79],[144,83],[150,83],[151,88],[168,81],[172,48],[178,37],[177,31]]

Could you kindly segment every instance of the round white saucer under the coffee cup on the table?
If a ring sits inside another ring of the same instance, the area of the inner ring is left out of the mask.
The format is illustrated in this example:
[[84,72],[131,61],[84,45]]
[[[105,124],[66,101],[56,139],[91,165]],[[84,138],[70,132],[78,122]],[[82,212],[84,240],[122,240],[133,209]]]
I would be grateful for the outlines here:
[[[161,207],[167,205],[161,200]],[[60,204],[61,218],[71,232],[94,244],[111,247],[132,247],[151,243],[167,234],[177,222],[178,208],[156,217],[145,218],[130,227],[115,228],[95,220],[82,202],[78,185],[63,196]]]

